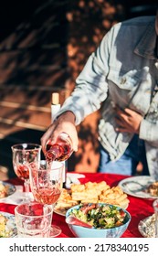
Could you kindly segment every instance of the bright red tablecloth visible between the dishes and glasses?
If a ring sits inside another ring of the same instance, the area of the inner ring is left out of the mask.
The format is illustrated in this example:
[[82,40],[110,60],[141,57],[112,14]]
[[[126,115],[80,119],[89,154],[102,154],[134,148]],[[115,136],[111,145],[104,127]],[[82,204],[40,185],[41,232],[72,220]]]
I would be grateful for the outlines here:
[[[110,174],[90,174],[90,173],[84,173],[85,177],[80,178],[80,183],[85,183],[88,181],[92,182],[100,182],[102,180],[105,180],[107,184],[110,186],[117,186],[119,181],[121,179],[126,178],[128,176],[121,176],[121,175],[110,175]],[[22,184],[22,181],[18,178],[8,180],[7,182],[10,182],[14,185]],[[122,238],[142,238],[142,235],[140,234],[138,230],[138,224],[141,219],[144,219],[150,215],[153,214],[153,200],[151,199],[144,199],[144,198],[138,198],[138,197],[132,197],[128,196],[130,203],[127,210],[132,215],[132,221],[128,227],[128,229],[125,231],[125,233],[122,235]],[[9,205],[5,203],[0,203],[0,211],[5,211],[14,214],[15,205]],[[58,225],[62,229],[62,233],[60,234],[60,238],[73,238],[73,234],[68,229],[68,225],[65,222],[65,217],[60,216],[57,213],[53,213],[53,224]]]

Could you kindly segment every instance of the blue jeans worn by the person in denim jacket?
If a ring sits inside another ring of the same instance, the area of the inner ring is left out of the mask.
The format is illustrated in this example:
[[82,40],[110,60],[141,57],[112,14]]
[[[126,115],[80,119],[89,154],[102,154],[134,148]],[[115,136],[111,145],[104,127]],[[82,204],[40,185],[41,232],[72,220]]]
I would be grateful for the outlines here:
[[149,176],[144,142],[139,139],[138,135],[133,136],[124,154],[115,162],[111,162],[110,155],[100,145],[99,173],[133,176],[136,174],[136,167],[139,162],[142,162],[143,165],[142,175]]

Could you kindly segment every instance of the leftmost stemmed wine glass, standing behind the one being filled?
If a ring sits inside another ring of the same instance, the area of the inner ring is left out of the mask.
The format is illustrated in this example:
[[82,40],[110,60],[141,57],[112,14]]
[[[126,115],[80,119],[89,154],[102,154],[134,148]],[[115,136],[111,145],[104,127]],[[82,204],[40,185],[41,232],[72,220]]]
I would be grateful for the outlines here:
[[24,180],[24,201],[29,198],[29,169],[37,168],[40,165],[41,145],[39,144],[14,144],[11,146],[13,167],[20,179]]

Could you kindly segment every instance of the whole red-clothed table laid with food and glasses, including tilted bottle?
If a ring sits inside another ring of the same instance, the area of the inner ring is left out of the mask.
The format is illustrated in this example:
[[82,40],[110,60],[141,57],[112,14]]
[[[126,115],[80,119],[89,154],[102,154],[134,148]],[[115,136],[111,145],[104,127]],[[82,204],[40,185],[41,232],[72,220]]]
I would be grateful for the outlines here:
[[[11,147],[16,178],[0,182],[0,237],[157,237],[158,189],[151,176],[67,172],[67,133]],[[154,204],[153,204],[154,202]]]

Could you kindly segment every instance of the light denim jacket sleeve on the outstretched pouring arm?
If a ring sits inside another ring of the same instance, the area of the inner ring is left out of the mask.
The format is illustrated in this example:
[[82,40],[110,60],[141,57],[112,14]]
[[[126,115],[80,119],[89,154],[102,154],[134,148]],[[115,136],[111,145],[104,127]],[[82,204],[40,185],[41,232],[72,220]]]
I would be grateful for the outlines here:
[[92,112],[108,96],[107,74],[111,52],[112,28],[100,42],[97,50],[90,55],[84,69],[76,80],[76,88],[64,102],[58,115],[71,111],[76,116],[76,125]]

